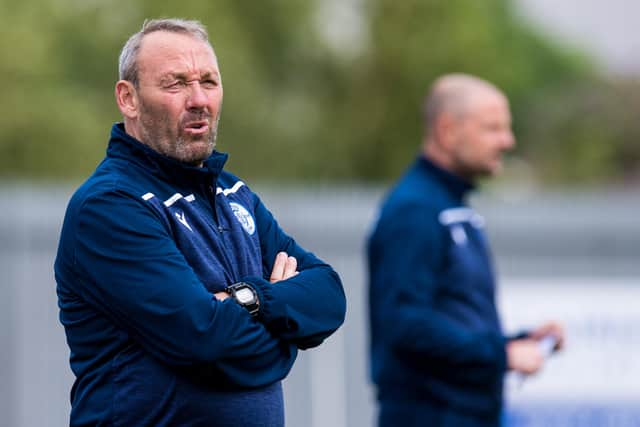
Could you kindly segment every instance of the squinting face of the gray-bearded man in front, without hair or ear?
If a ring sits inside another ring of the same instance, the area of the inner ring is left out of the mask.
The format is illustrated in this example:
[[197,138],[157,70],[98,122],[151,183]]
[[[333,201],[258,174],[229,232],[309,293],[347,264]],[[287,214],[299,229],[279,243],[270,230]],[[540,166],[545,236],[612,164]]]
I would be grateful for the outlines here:
[[154,150],[200,165],[215,147],[222,82],[211,47],[165,31],[143,39],[133,136]]

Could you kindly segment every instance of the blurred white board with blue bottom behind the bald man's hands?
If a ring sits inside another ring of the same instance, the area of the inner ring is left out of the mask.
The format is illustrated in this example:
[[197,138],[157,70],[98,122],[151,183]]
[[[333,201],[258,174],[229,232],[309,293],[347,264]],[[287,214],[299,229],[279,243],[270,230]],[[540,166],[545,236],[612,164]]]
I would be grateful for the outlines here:
[[512,426],[640,424],[640,282],[571,278],[505,280],[507,329],[545,319],[566,326],[567,347],[521,386],[507,381]]

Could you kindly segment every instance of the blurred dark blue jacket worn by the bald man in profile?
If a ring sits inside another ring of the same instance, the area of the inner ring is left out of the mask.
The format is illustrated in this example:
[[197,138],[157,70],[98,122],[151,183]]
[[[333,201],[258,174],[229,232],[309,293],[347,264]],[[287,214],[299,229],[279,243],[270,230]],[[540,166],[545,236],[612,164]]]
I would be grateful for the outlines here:
[[464,201],[470,189],[421,157],[370,237],[371,370],[383,414],[422,402],[398,412],[422,411],[421,423],[438,426],[449,425],[439,412],[492,420],[477,425],[500,413],[505,338],[483,221]]

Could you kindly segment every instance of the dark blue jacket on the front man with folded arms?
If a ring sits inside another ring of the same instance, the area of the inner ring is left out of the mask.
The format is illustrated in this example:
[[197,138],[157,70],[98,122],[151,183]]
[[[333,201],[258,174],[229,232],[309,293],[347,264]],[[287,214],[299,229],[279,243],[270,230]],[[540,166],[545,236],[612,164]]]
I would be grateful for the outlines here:
[[[71,198],[55,262],[71,425],[280,425],[279,381],[297,350],[343,322],[338,275],[222,170],[226,159],[186,166],[117,124]],[[300,273],[270,284],[279,251]],[[238,281],[256,288],[257,319],[213,296]]]

